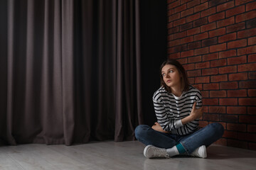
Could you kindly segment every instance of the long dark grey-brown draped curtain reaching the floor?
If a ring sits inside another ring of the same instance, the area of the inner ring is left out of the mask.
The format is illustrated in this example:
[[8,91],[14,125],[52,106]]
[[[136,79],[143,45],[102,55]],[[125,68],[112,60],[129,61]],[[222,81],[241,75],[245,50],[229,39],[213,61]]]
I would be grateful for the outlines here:
[[3,0],[0,14],[1,142],[134,140],[137,0]]

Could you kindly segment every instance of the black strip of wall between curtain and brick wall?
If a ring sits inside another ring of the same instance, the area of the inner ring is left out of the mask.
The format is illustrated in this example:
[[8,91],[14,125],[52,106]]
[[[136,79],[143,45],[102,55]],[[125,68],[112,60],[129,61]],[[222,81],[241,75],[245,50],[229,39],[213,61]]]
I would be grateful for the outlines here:
[[156,121],[152,96],[160,87],[159,67],[166,60],[166,1],[140,0],[142,111],[144,123]]

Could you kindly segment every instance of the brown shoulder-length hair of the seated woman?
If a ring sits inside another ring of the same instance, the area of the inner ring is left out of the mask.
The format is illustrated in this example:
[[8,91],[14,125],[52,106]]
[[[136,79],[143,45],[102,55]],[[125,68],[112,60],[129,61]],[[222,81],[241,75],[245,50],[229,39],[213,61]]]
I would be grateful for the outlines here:
[[185,71],[184,67],[181,65],[181,63],[179,63],[177,60],[174,60],[174,59],[166,60],[165,62],[163,62],[161,64],[161,67],[160,67],[161,86],[164,86],[164,89],[166,89],[166,91],[171,93],[171,88],[165,84],[163,75],[161,74],[161,69],[167,64],[174,65],[176,67],[176,69],[178,69],[179,74],[181,74],[181,89],[182,89],[182,91],[188,91],[189,90],[189,82],[188,82],[188,76],[186,74],[186,71]]

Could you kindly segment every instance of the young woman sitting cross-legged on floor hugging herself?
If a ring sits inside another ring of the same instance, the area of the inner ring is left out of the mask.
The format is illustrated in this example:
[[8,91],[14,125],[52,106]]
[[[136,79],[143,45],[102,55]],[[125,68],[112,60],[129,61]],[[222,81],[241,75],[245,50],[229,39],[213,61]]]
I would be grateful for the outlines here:
[[198,130],[203,115],[202,96],[188,84],[183,66],[167,60],[160,68],[161,87],[154,93],[157,122],[152,127],[139,125],[135,137],[146,145],[144,156],[173,157],[187,154],[206,158],[206,147],[223,135],[220,123],[211,123]]

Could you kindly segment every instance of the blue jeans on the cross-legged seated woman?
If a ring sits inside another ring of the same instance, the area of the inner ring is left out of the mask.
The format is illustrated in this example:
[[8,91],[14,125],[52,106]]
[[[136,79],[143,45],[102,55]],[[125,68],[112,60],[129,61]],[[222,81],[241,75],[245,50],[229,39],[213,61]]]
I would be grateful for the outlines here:
[[158,132],[148,125],[138,125],[135,129],[135,137],[144,145],[154,145],[155,147],[171,148],[181,143],[187,154],[191,154],[196,148],[206,145],[208,147],[213,142],[222,137],[223,125],[211,123],[189,135],[175,135],[171,133]]

